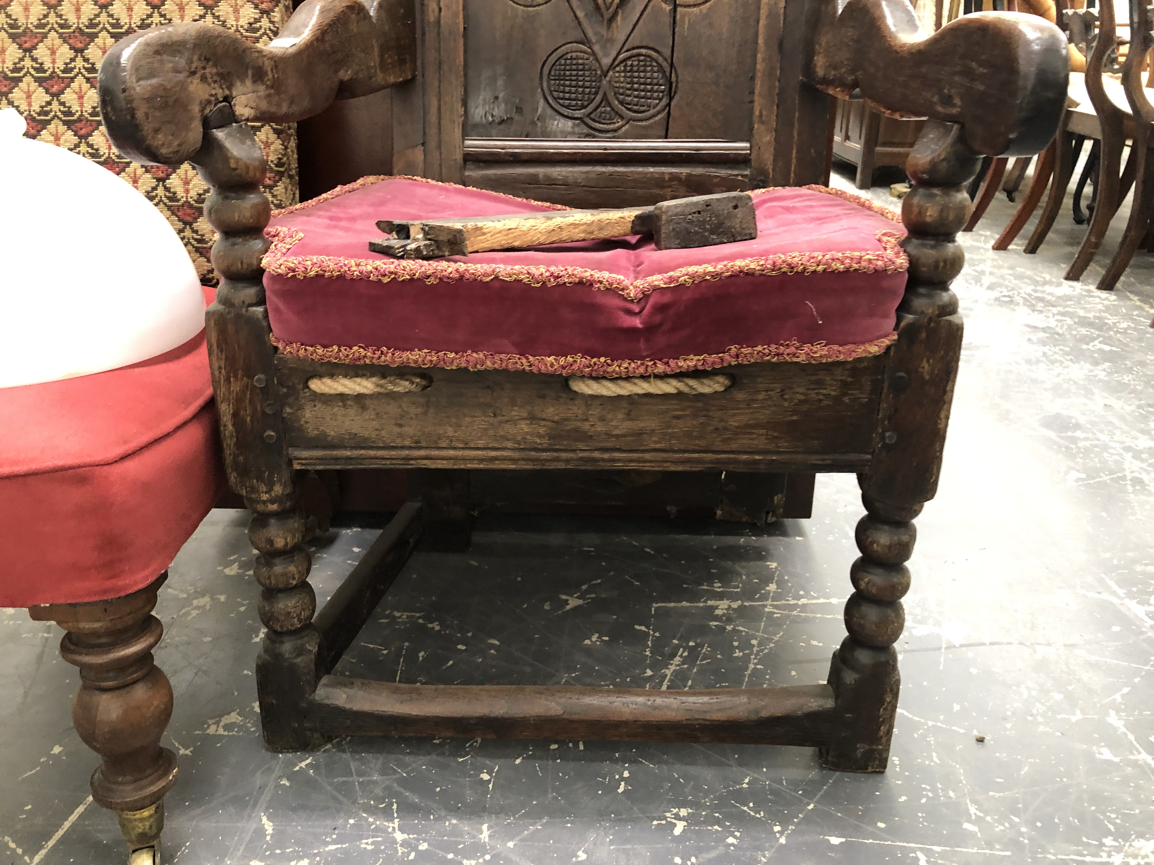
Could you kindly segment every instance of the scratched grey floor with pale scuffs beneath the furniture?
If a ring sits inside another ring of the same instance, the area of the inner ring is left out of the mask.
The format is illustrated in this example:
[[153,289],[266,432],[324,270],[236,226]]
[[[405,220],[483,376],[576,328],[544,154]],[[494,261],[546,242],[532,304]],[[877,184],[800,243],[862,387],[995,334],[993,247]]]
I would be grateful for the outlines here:
[[[1115,294],[1089,281],[1104,262],[1063,283],[1081,228],[1064,216],[1043,254],[992,254],[1010,210],[1001,198],[965,241],[965,364],[911,563],[885,775],[769,747],[342,739],[267,753],[250,548],[243,516],[218,511],[158,607],[182,766],[167,860],[1154,863],[1154,258]],[[485,519],[471,552],[412,561],[343,668],[437,683],[824,679],[860,513],[853,479],[825,475],[814,519],[765,532]],[[319,546],[322,596],[373,534]],[[93,759],[69,725],[76,674],[57,632],[21,611],[0,625],[0,863],[121,862],[114,820],[87,798]]]

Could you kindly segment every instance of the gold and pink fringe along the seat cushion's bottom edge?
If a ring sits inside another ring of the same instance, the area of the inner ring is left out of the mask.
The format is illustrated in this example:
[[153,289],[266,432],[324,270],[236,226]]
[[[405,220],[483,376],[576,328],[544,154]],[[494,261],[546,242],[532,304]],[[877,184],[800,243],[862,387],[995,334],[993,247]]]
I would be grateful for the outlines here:
[[700,369],[718,369],[739,363],[829,363],[859,358],[872,358],[889,348],[896,333],[870,343],[854,345],[802,344],[796,340],[778,345],[730,346],[721,354],[699,354],[668,360],[610,360],[584,354],[534,356],[494,352],[434,352],[428,348],[397,349],[357,346],[309,346],[286,343],[272,337],[282,354],[329,363],[357,363],[382,367],[437,367],[441,369],[504,369],[515,373],[545,373],[594,378],[673,375]]

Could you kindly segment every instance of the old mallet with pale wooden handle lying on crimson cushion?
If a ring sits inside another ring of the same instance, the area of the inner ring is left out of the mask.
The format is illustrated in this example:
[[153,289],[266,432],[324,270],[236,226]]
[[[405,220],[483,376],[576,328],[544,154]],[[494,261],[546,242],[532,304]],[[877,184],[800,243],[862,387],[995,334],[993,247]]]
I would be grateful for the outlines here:
[[754,200],[747,193],[698,195],[661,202],[652,208],[621,210],[382,219],[376,227],[391,236],[370,240],[369,251],[396,258],[441,258],[630,234],[652,234],[658,249],[711,247],[757,236]]

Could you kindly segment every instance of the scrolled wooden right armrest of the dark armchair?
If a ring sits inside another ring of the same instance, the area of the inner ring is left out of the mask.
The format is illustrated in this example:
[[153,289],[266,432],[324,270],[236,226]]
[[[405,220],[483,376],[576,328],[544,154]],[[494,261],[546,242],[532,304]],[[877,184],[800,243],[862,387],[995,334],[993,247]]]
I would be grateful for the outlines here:
[[1049,21],[976,13],[927,35],[906,0],[829,0],[819,15],[807,77],[826,92],[960,123],[987,156],[1036,153],[1057,133],[1070,52]]

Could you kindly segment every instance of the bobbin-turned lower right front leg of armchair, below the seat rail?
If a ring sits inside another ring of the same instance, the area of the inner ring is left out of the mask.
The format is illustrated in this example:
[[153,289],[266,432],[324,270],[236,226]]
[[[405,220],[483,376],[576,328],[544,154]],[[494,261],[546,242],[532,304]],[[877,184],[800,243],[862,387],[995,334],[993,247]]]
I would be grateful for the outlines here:
[[854,533],[861,557],[849,569],[854,593],[846,602],[849,635],[833,654],[830,686],[840,736],[822,749],[822,762],[845,772],[884,772],[898,710],[898,653],[906,624],[901,599],[909,591],[906,562],[917,536],[912,520],[922,507],[893,507],[862,496],[868,511]]

